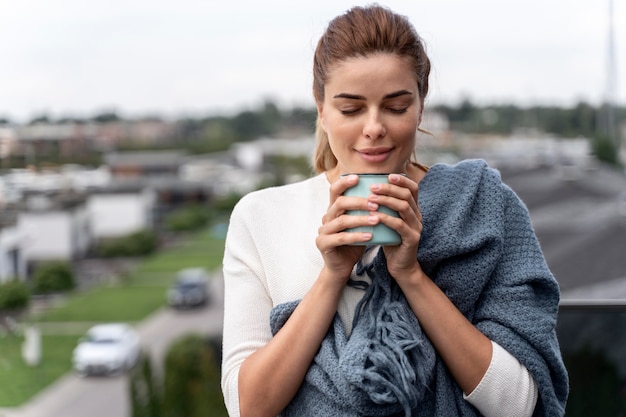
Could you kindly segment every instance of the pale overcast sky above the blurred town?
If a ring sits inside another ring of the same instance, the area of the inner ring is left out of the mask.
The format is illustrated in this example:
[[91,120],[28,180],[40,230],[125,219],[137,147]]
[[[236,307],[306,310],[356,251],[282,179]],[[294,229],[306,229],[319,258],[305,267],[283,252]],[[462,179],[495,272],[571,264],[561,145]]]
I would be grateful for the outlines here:
[[[380,1],[433,70],[427,103],[571,105],[606,96],[609,0]],[[0,0],[0,117],[180,117],[264,99],[309,106],[313,49],[344,0]],[[615,0],[618,74],[626,5]],[[615,97],[626,102],[626,77]]]

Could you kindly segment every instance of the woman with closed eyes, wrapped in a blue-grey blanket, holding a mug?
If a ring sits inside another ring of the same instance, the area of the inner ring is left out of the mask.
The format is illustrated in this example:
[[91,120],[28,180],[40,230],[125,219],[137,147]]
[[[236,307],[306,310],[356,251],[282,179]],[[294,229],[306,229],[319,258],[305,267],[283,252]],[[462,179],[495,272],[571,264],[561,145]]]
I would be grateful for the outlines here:
[[[232,416],[563,415],[559,290],[526,208],[481,161],[412,160],[429,72],[414,28],[383,7],[349,10],[320,39],[318,175],[251,193],[231,217]],[[343,174],[360,172],[391,174],[367,199],[343,196],[358,181]],[[401,244],[345,231],[378,223]]]

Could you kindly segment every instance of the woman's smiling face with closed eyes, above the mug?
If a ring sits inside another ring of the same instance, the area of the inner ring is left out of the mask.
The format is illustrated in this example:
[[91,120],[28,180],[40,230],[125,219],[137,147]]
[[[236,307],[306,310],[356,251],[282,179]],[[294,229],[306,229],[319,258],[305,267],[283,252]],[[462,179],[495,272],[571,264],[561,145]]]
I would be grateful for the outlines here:
[[335,66],[318,114],[346,173],[406,172],[422,117],[417,80],[394,54],[350,58]]

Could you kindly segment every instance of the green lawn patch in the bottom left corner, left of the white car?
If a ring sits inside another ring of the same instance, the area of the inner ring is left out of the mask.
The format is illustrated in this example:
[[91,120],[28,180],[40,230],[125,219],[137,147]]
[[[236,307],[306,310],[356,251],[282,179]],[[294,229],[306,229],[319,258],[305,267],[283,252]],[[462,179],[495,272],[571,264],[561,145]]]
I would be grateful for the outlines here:
[[41,365],[31,367],[21,356],[22,337],[0,337],[0,406],[21,405],[71,370],[77,339],[78,335],[42,336]]

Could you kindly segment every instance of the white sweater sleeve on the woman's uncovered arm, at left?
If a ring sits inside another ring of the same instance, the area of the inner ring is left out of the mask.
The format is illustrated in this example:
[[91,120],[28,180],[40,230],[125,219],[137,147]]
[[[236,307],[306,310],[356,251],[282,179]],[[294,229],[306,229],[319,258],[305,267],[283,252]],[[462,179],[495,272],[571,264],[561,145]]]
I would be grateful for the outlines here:
[[222,392],[228,415],[239,417],[239,369],[271,338],[267,321],[272,302],[248,222],[252,203],[244,197],[233,210],[223,259],[224,332]]

